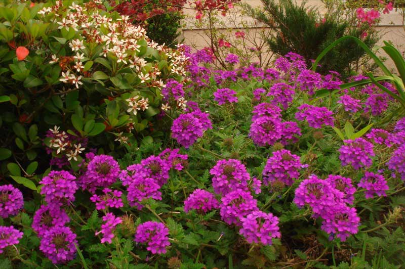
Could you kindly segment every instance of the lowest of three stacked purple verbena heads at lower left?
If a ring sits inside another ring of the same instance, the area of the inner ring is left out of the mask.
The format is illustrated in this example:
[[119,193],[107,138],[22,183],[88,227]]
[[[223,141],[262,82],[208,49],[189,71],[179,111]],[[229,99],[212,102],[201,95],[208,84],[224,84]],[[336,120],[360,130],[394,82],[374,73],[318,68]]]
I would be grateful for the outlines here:
[[68,227],[52,227],[41,240],[39,249],[54,264],[66,263],[76,256],[76,235]]

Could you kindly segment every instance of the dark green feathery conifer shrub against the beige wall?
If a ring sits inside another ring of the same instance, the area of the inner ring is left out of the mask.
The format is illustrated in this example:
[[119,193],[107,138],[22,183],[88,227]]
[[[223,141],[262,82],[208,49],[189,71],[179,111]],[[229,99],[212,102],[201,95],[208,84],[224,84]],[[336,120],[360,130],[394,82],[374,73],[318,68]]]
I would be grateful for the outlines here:
[[[278,55],[298,53],[308,64],[336,39],[345,35],[360,37],[366,31],[363,28],[353,28],[349,22],[340,21],[333,14],[327,13],[322,19],[318,10],[308,8],[305,2],[298,5],[293,0],[262,0],[262,3],[262,10],[249,6],[246,9],[250,16],[276,32],[268,40],[270,50]],[[376,34],[371,33],[364,42],[372,48],[377,40]],[[319,62],[318,70],[325,74],[335,70],[346,77],[350,75],[351,65],[358,63],[365,55],[356,42],[345,40]]]

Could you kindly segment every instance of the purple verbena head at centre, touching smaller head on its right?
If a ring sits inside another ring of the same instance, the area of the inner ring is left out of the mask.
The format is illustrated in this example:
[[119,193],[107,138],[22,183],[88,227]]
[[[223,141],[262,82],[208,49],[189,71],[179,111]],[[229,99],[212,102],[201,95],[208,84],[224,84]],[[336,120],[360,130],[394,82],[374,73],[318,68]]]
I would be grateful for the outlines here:
[[272,146],[281,139],[282,126],[279,119],[263,116],[252,122],[249,136],[258,146]]

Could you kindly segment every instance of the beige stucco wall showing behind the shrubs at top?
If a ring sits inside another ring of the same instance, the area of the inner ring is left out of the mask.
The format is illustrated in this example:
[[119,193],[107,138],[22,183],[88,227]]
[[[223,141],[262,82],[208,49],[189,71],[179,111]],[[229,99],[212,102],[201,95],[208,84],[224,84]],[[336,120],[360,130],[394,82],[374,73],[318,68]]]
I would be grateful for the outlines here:
[[[261,7],[260,0],[243,0],[241,2],[246,2],[253,7]],[[300,3],[300,1],[298,1]],[[325,11],[323,4],[320,0],[309,0],[307,1],[307,6],[313,6],[319,8],[319,10]],[[195,27],[195,14],[190,9],[185,9],[184,13],[187,15],[184,20],[184,27],[182,31],[183,43],[189,44],[194,48],[201,49],[209,45],[209,38],[204,36],[204,29],[198,29]],[[220,31],[227,32],[235,28],[235,25],[229,25],[229,17],[232,16],[233,20],[247,21],[251,23],[253,27],[249,29],[251,34],[258,30],[258,27],[263,27],[260,23],[255,24],[255,21],[252,18],[239,15],[235,15],[230,12],[226,17],[219,16],[218,19],[224,21],[225,28]],[[228,26],[229,25],[229,26]],[[383,40],[390,40],[393,44],[402,52],[405,53],[405,30],[403,27],[402,14],[399,11],[391,11],[390,14],[382,14],[381,21],[376,27],[380,33],[381,39],[378,45],[383,44]],[[247,33],[249,34],[249,33]],[[257,37],[258,38],[258,37]],[[382,50],[380,50],[382,51]],[[384,55],[384,52],[381,52],[381,55]],[[392,68],[393,64],[389,61],[387,65]]]

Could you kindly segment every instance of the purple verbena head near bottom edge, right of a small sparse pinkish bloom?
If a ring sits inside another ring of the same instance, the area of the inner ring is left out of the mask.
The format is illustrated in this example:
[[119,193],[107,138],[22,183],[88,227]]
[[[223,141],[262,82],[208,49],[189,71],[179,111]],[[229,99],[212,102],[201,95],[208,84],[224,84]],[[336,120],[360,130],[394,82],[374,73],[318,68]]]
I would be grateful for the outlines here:
[[135,242],[147,244],[146,249],[152,254],[166,253],[170,246],[169,229],[163,223],[146,221],[137,227]]

